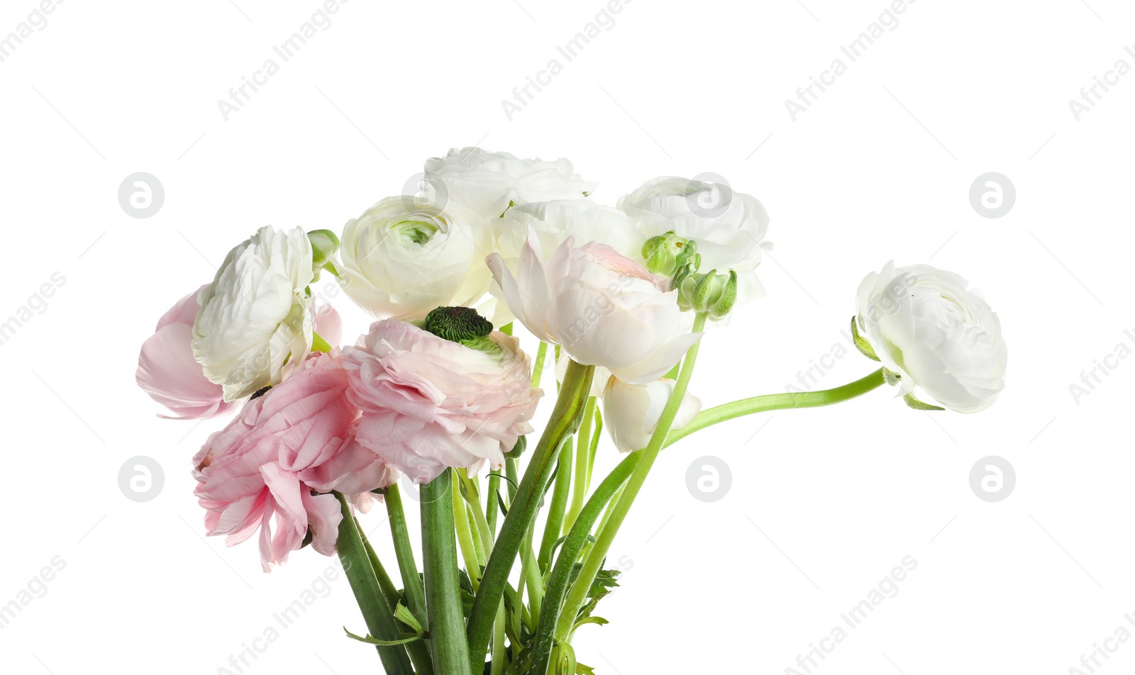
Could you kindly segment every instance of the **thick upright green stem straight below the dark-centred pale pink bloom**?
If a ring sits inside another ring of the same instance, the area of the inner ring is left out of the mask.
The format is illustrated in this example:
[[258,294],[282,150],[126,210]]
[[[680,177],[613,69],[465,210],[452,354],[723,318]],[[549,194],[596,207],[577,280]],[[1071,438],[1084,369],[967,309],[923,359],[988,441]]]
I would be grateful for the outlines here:
[[[426,606],[429,610],[430,650],[442,675],[472,675],[465,644],[457,543],[454,540],[453,470],[421,487],[422,560]],[[482,661],[484,663],[484,661]],[[484,665],[481,666],[484,668]],[[480,675],[481,670],[477,670]]]

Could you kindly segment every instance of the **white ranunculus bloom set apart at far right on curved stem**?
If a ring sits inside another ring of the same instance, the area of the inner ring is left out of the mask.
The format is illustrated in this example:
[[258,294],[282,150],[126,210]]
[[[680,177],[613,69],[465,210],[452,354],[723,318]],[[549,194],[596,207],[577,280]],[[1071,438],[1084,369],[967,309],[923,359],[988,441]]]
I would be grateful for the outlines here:
[[900,394],[918,386],[939,405],[983,411],[1004,388],[1001,322],[964,278],[926,264],[888,262],[859,285],[859,334],[901,377]]

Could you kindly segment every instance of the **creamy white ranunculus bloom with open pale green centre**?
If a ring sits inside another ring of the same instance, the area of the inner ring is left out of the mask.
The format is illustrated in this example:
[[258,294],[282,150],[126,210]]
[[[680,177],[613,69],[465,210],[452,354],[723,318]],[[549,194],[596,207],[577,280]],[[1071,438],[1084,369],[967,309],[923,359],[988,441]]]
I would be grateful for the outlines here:
[[484,220],[457,204],[387,197],[343,228],[343,290],[376,317],[426,315],[476,303],[489,289]]

